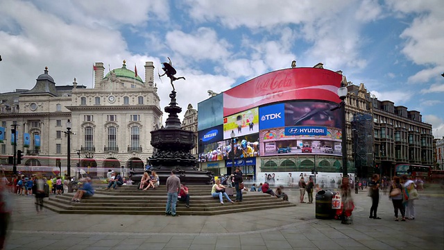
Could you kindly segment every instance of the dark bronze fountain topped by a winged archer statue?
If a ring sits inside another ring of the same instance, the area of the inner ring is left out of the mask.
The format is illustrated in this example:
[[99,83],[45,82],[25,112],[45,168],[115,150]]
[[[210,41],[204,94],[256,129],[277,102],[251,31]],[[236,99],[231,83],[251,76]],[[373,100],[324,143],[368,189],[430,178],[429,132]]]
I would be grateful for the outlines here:
[[[168,58],[169,59],[169,58]],[[171,81],[173,91],[169,94],[171,99],[169,106],[165,107],[165,112],[169,113],[164,128],[151,131],[151,146],[156,150],[149,158],[148,163],[151,170],[155,171],[160,178],[160,183],[165,183],[172,169],[176,169],[180,181],[187,184],[210,183],[212,172],[199,171],[196,167],[198,160],[191,154],[191,149],[196,147],[194,143],[194,133],[181,128],[178,113],[182,108],[176,103],[176,90],[173,82],[185,77],[176,77],[176,69],[173,68],[171,60],[169,63],[162,63],[164,74]]]

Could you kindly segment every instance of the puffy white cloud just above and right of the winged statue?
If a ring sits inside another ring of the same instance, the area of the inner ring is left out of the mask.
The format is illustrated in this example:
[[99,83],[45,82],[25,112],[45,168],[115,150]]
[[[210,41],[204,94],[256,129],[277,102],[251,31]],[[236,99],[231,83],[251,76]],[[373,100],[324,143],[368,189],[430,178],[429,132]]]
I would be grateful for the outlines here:
[[219,39],[212,28],[198,28],[193,34],[170,31],[166,35],[167,44],[176,53],[194,60],[221,60],[230,56],[230,44]]

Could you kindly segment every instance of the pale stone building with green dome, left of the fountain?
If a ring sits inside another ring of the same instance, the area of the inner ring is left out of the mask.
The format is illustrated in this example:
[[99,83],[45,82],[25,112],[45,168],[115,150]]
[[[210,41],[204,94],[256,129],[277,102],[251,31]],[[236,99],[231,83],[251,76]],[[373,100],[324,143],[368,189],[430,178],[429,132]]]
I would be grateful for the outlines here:
[[[153,153],[151,133],[162,124],[154,66],[146,62],[145,79],[126,68],[95,63],[94,88],[74,83],[56,85],[47,68],[31,90],[0,94],[1,126],[17,126],[17,149],[26,153],[19,170],[67,173],[67,121],[71,122],[71,175],[104,176],[108,169],[127,172],[144,167]],[[31,137],[24,144],[24,135]],[[40,137],[40,147],[35,140]],[[0,145],[0,160],[13,154],[10,133]],[[77,167],[78,166],[78,167]]]

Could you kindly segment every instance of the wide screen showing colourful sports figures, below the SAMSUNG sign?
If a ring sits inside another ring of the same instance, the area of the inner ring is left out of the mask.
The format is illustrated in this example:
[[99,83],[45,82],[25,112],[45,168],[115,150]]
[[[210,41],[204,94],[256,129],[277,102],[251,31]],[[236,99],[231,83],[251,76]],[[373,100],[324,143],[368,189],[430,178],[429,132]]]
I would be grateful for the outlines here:
[[199,153],[202,162],[216,160],[230,160],[259,156],[259,134],[242,135],[234,138],[234,150],[231,147],[231,139],[205,144]]

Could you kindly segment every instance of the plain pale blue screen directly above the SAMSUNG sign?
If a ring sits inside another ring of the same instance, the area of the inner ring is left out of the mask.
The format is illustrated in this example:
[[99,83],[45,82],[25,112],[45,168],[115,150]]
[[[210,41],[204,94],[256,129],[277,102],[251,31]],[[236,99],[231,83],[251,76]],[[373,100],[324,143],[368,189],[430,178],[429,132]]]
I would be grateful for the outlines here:
[[201,101],[197,106],[198,131],[223,124],[223,94]]

